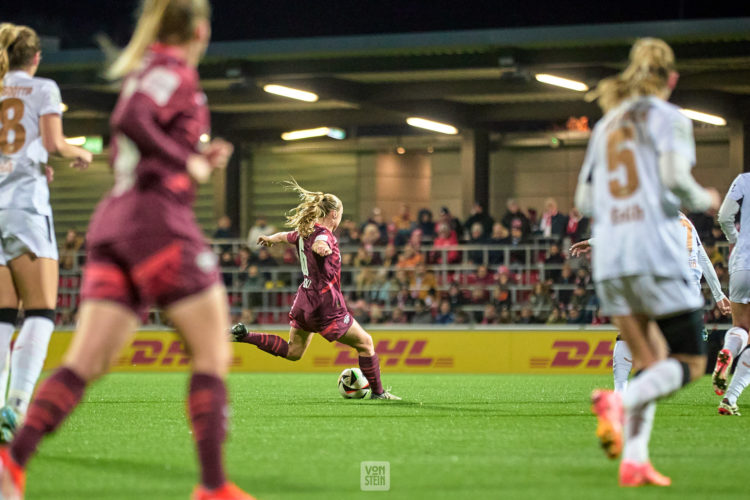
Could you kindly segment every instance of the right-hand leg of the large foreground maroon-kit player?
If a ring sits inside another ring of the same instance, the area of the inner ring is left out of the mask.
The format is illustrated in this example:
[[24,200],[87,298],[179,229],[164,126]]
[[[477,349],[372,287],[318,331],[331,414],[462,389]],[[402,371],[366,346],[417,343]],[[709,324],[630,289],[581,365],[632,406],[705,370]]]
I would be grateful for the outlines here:
[[201,484],[193,499],[252,497],[227,481],[222,448],[226,437],[227,391],[231,349],[226,342],[229,306],[226,290],[214,285],[167,309],[193,361],[188,409],[201,466]]

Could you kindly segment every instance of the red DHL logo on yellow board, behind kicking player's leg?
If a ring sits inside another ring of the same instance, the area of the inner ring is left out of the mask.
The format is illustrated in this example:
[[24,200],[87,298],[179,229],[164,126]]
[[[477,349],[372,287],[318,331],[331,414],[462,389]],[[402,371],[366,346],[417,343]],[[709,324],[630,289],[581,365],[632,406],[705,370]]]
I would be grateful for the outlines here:
[[[375,344],[375,352],[384,366],[412,366],[452,368],[453,357],[428,357],[423,354],[428,340],[381,340]],[[349,346],[336,344],[339,353],[335,357],[317,356],[313,359],[315,366],[356,366],[357,353]]]

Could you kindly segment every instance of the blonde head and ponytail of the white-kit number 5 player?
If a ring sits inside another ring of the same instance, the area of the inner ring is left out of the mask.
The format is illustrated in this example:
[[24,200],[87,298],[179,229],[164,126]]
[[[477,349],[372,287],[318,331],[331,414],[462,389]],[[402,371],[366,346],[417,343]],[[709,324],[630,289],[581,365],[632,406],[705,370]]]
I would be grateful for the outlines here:
[[622,73],[600,81],[586,94],[586,100],[598,100],[606,113],[630,97],[659,95],[667,89],[675,60],[672,48],[664,40],[639,39],[633,44],[629,59],[630,63]]

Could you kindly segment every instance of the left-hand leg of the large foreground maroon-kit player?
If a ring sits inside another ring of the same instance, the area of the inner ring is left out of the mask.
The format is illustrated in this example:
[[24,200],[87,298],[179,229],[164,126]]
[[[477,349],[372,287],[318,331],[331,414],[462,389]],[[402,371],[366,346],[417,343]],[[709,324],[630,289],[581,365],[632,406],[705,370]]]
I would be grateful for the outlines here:
[[10,447],[0,452],[0,484],[7,487],[2,498],[21,497],[23,471],[42,438],[57,429],[75,409],[86,385],[109,369],[137,325],[135,313],[120,304],[108,301],[82,304],[78,329],[62,367],[39,386],[24,425]]

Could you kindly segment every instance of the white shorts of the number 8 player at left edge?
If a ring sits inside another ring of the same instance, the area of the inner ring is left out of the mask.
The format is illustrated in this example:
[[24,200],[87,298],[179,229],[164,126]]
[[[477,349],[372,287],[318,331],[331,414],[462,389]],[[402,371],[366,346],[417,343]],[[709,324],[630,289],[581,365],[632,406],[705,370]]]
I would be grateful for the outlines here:
[[0,266],[25,253],[58,260],[52,217],[26,210],[0,210]]

